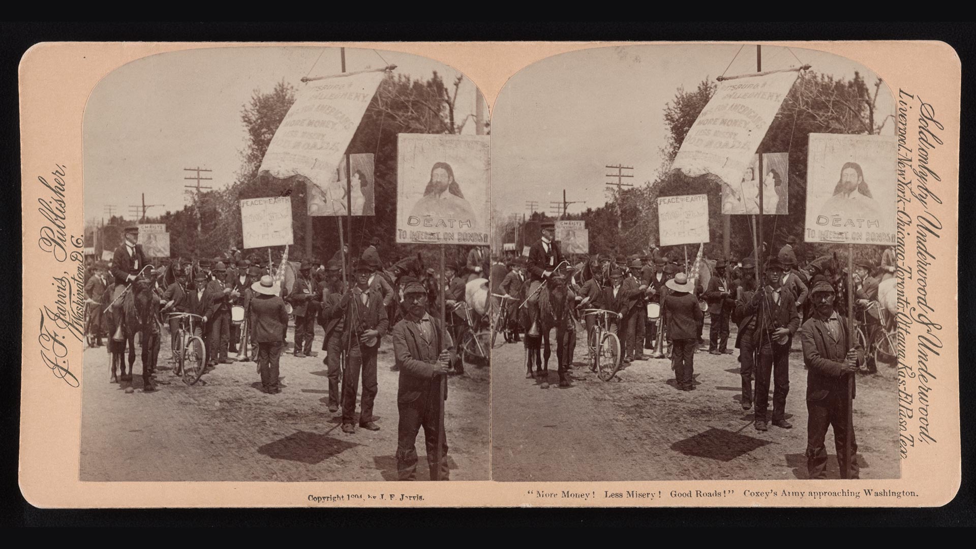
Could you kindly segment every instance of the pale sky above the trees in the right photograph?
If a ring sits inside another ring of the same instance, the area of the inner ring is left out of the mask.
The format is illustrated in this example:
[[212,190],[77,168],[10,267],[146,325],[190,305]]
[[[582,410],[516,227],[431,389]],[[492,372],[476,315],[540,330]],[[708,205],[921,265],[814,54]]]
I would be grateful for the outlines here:
[[[594,48],[534,63],[511,77],[492,110],[492,198],[496,212],[526,212],[525,202],[562,200],[570,213],[597,208],[610,196],[606,165],[632,166],[624,183],[653,182],[667,142],[664,107],[678,86],[693,91],[714,80],[732,62],[740,45],[649,45]],[[802,63],[799,63],[793,54]],[[861,72],[874,90],[876,75],[860,63],[818,52],[762,47],[762,69],[809,63],[813,70],[853,77]],[[742,48],[726,75],[755,71],[755,46]],[[880,120],[893,112],[890,93],[878,95]],[[884,134],[893,134],[889,120]]]

